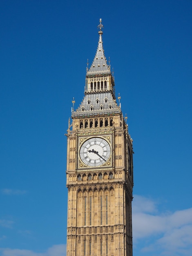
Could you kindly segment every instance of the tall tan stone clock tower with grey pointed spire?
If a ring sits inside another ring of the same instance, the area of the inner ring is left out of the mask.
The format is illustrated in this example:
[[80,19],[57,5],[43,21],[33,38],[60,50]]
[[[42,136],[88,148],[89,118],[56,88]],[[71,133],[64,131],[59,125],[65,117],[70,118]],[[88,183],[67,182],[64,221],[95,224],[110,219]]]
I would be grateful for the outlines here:
[[85,96],[67,130],[67,256],[132,256],[132,139],[116,101],[102,28],[100,19]]

